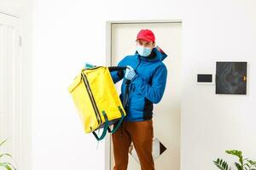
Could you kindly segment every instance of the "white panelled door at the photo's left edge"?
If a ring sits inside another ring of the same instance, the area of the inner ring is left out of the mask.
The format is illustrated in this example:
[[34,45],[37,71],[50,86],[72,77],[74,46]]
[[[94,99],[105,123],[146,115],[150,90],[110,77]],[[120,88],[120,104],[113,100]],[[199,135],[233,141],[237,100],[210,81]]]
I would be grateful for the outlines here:
[[0,141],[20,169],[21,161],[21,62],[20,20],[0,13]]

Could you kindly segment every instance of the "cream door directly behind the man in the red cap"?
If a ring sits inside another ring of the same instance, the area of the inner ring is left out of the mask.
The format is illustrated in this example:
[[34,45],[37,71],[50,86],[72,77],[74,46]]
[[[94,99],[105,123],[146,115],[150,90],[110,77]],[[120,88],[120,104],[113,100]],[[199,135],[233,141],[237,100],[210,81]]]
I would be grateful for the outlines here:
[[[155,168],[178,170],[180,169],[181,23],[112,24],[111,65],[117,65],[125,55],[135,53],[137,32],[144,28],[154,31],[156,44],[168,54],[164,60],[168,70],[166,92],[160,104],[154,105]],[[120,87],[120,83],[117,87]],[[161,147],[159,142],[163,144]],[[160,154],[163,150],[165,151]],[[133,156],[129,157],[128,169],[139,170],[135,150],[131,151],[131,154]],[[112,149],[111,169],[113,169]]]

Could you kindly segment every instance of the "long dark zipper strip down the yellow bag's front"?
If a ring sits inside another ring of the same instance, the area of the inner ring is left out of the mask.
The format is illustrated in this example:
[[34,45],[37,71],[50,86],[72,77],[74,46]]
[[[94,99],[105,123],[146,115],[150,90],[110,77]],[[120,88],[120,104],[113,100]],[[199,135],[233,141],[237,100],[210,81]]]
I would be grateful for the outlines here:
[[87,79],[86,75],[84,75],[84,73],[82,73],[82,78],[83,78],[83,81],[84,81],[85,88],[87,89],[87,92],[89,94],[90,102],[93,106],[93,110],[94,110],[94,113],[96,115],[97,122],[98,122],[98,124],[101,124],[102,123],[102,117],[100,116],[99,110],[96,106],[96,101],[95,101],[95,99],[93,97],[93,94],[90,90],[90,85],[89,85],[88,79]]

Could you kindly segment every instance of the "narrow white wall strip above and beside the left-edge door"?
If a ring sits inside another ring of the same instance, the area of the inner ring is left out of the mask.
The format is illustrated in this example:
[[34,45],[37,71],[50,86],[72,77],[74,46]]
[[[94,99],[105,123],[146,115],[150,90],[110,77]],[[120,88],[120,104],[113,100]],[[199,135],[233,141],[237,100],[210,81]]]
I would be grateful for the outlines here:
[[20,18],[22,37],[22,165],[31,169],[31,113],[32,113],[32,0],[0,0],[0,12]]

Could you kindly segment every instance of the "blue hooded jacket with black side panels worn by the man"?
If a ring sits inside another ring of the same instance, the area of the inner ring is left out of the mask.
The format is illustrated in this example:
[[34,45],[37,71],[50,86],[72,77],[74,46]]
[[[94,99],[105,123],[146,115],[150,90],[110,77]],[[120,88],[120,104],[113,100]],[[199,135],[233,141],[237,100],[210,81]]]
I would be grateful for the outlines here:
[[[160,48],[153,48],[148,58],[139,54],[128,55],[121,61],[119,66],[131,65],[137,76],[131,80],[129,87],[129,99],[125,111],[126,122],[140,122],[150,120],[153,116],[153,104],[160,102],[165,88],[167,69],[162,62],[166,54]],[[119,82],[124,77],[124,71],[111,72],[113,82]],[[121,87],[120,99],[124,101],[125,79]]]

